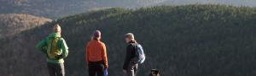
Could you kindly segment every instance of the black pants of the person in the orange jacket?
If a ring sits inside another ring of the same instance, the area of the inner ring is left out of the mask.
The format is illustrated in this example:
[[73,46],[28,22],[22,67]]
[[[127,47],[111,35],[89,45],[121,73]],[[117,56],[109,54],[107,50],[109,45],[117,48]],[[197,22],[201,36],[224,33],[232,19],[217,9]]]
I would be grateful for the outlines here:
[[103,76],[104,75],[104,63],[101,62],[89,62],[89,76]]

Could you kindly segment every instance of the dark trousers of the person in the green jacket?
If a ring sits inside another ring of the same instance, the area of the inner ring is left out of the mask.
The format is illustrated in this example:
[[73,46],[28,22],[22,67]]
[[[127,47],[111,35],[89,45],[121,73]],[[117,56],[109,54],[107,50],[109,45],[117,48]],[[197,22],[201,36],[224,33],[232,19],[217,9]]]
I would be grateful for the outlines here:
[[47,63],[49,76],[65,76],[64,63]]

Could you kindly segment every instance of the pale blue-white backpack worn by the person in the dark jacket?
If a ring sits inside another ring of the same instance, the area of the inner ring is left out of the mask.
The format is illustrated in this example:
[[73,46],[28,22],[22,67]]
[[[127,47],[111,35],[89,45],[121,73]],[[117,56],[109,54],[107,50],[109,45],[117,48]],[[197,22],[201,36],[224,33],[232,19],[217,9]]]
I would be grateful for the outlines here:
[[140,44],[137,44],[136,48],[135,48],[135,51],[136,51],[135,52],[136,58],[134,59],[134,61],[137,62],[137,63],[142,64],[146,59],[145,53],[143,51],[143,46],[140,45]]

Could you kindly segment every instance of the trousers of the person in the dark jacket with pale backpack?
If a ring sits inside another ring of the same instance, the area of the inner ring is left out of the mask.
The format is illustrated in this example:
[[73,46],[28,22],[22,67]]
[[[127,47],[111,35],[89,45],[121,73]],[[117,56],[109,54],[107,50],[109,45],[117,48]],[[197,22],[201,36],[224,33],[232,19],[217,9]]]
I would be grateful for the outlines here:
[[125,73],[126,76],[136,76],[137,75],[137,67],[138,67],[137,63],[129,63],[129,66],[126,70],[127,73]]

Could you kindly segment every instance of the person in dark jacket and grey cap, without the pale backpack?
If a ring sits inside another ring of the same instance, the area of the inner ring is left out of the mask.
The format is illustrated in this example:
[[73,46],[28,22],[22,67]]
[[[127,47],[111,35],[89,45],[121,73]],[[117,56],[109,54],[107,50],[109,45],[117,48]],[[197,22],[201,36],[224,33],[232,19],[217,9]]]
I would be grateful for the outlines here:
[[132,33],[127,33],[125,34],[125,42],[129,45],[126,47],[126,57],[123,66],[123,72],[126,76],[136,76],[138,63],[132,61],[132,59],[136,57],[135,49],[137,41],[135,41],[134,35]]

